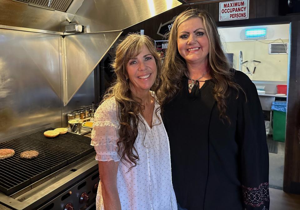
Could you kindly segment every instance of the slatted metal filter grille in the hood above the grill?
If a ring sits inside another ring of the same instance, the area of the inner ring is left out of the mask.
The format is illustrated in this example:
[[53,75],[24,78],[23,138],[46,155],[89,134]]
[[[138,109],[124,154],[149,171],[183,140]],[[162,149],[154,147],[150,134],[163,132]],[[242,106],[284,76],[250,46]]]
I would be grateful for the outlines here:
[[[49,0],[17,0],[17,1],[37,4],[44,7],[48,7],[48,3],[49,3]],[[51,6],[49,8],[59,10],[62,12],[67,12],[67,9],[69,8],[72,2],[73,0],[52,0]]]

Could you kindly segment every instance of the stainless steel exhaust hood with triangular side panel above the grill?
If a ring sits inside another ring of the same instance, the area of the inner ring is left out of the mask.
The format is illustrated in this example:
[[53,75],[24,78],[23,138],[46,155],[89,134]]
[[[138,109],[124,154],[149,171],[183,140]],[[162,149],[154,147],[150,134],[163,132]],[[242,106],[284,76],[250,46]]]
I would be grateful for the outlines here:
[[[0,0],[0,28],[62,35],[64,105],[123,29],[182,4],[177,0],[53,0],[48,3],[48,0]],[[83,25],[84,33],[65,33],[69,24]]]

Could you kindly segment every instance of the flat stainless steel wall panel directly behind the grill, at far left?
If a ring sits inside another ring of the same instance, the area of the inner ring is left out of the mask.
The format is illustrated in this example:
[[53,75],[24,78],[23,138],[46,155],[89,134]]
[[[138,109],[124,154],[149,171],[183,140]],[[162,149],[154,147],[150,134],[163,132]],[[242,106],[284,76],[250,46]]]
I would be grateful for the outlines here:
[[60,37],[0,29],[0,141],[61,125]]

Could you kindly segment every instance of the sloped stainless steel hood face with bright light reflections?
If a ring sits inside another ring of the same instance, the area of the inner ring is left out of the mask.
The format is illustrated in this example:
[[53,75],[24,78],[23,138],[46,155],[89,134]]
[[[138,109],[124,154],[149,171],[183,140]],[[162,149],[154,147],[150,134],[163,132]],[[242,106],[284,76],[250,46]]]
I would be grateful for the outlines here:
[[84,1],[73,22],[86,25],[88,32],[122,30],[181,4],[176,0]]

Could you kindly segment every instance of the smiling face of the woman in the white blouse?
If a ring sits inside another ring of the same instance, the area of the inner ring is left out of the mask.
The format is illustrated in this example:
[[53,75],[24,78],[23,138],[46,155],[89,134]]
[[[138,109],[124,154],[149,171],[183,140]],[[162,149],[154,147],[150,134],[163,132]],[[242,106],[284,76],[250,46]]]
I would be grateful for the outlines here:
[[144,46],[126,65],[130,89],[136,93],[149,91],[155,82],[157,66],[152,53]]

